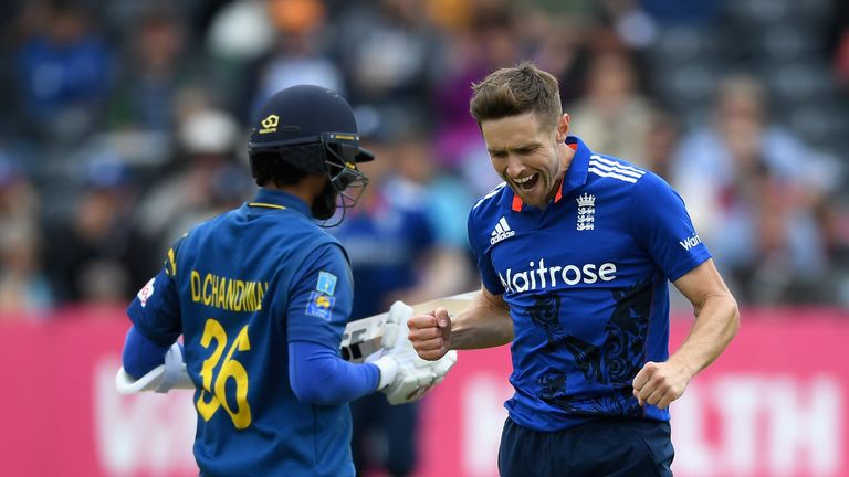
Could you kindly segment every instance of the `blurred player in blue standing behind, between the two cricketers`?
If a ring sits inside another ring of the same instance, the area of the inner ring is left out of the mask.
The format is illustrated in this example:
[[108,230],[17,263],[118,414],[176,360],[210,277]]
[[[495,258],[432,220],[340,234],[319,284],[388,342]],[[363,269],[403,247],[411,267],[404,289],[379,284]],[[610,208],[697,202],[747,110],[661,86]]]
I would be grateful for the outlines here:
[[[433,208],[437,198],[428,190],[433,176],[429,136],[419,128],[399,131],[397,123],[382,127],[391,129],[384,132],[389,142],[377,144],[378,159],[361,167],[369,186],[359,205],[331,230],[350,258],[356,290],[352,319],[384,312],[395,300],[416,304],[459,293],[471,275],[465,246],[451,233],[455,224],[464,223],[464,212],[441,215],[440,222],[430,215],[433,209],[447,209]],[[465,201],[460,202],[458,206]],[[447,231],[441,233],[443,226]],[[379,394],[352,403],[352,452],[358,475],[375,469],[391,476],[413,471],[418,406],[391,406]]]

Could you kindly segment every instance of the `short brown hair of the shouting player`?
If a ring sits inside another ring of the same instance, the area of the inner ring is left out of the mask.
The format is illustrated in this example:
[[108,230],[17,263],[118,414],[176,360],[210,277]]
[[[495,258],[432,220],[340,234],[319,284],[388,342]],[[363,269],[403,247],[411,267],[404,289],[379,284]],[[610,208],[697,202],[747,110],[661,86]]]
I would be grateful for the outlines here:
[[563,115],[557,78],[531,62],[497,70],[472,84],[472,91],[469,110],[479,126],[485,120],[534,113],[541,128],[554,128]]

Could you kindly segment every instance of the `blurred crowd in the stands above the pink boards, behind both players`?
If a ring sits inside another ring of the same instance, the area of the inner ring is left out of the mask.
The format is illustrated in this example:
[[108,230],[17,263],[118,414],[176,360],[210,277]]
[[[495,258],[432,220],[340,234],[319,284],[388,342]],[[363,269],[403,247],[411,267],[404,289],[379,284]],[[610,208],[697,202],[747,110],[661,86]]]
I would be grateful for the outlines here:
[[0,26],[0,319],[126,304],[254,193],[254,109],[300,83],[378,153],[334,231],[360,311],[475,287],[465,214],[500,180],[470,85],[523,60],[677,188],[744,305],[849,307],[845,1],[18,0]]

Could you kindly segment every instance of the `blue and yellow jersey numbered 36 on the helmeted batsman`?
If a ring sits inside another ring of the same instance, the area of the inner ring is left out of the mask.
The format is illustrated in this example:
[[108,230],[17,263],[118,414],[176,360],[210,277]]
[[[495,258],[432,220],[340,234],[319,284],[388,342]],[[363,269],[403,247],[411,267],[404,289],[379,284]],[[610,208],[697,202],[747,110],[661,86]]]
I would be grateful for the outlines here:
[[205,476],[353,476],[348,405],[296,399],[290,341],[338,349],[352,307],[345,252],[301,199],[261,189],[168,251],[127,312],[149,340],[184,336]]

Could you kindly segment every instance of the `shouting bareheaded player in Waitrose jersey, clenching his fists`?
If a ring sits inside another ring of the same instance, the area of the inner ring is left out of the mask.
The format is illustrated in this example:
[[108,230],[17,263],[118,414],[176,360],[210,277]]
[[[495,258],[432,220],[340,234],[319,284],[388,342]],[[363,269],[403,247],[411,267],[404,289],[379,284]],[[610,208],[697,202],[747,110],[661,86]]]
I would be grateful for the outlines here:
[[[568,136],[557,81],[530,63],[475,84],[504,183],[471,210],[481,293],[409,320],[424,359],[511,343],[502,476],[669,476],[669,405],[738,328],[737,305],[661,178]],[[668,282],[692,303],[669,356]]]

